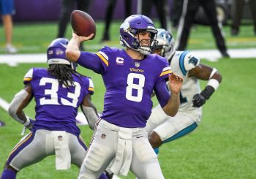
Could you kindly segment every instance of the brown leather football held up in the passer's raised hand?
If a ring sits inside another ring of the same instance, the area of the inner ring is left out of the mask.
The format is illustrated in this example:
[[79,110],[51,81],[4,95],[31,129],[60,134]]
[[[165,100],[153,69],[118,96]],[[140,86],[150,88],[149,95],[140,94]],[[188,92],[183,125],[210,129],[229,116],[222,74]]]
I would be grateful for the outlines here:
[[[73,31],[79,36],[88,37],[90,34],[96,34],[96,25],[94,19],[86,12],[74,10],[70,16],[70,22]],[[91,39],[94,39],[92,37]]]

